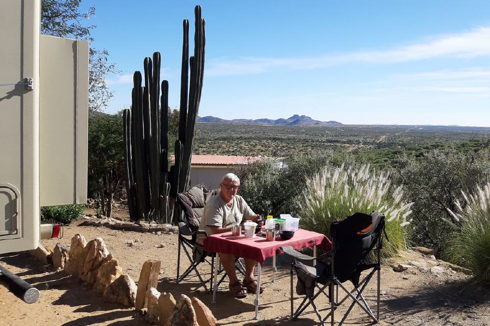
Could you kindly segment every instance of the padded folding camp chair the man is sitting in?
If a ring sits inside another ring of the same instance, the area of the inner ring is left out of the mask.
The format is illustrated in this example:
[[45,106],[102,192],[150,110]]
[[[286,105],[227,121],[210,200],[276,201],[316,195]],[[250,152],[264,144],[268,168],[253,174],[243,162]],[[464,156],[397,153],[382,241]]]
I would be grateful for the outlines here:
[[[186,278],[191,272],[199,278],[201,285],[200,287],[204,287],[206,293],[212,291],[213,289],[213,275],[214,275],[214,259],[216,257],[215,253],[210,253],[204,251],[204,247],[202,244],[197,242],[198,235],[202,234],[207,236],[206,232],[199,231],[199,227],[201,224],[202,214],[204,212],[204,205],[207,198],[213,196],[213,192],[207,191],[205,188],[192,187],[186,193],[180,193],[177,195],[178,205],[178,218],[179,218],[179,237],[178,237],[178,258],[177,258],[177,283],[180,283],[184,278]],[[189,260],[189,266],[187,269],[180,275],[180,256],[181,249],[184,251],[187,259]],[[209,261],[211,258],[211,261]],[[206,262],[211,266],[211,276],[209,279],[204,280],[199,273],[198,265]],[[244,267],[241,265],[241,262],[238,260],[237,270],[244,275]],[[223,270],[218,269],[218,274],[220,274]],[[225,275],[222,276],[218,285],[224,280]],[[210,284],[210,290],[208,290],[206,283]]]

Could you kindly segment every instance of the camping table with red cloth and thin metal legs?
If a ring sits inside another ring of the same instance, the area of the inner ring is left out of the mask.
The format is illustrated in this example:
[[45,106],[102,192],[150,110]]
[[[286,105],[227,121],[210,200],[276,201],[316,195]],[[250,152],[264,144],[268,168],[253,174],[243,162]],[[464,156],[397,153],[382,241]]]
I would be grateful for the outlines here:
[[[258,319],[259,304],[260,304],[260,274],[264,260],[273,257],[273,280],[275,280],[276,270],[276,253],[282,254],[279,247],[292,246],[299,250],[306,247],[313,247],[313,252],[316,254],[316,246],[321,246],[324,249],[330,249],[332,242],[323,234],[299,229],[295,235],[289,240],[278,239],[276,241],[268,241],[265,237],[255,236],[246,238],[244,235],[233,236],[231,232],[213,234],[204,240],[204,250],[219,254],[231,254],[240,258],[248,258],[257,261],[257,293],[255,297],[255,317]],[[216,255],[214,260],[214,270],[218,270],[219,255]],[[213,280],[213,304],[216,303],[216,283],[217,273],[214,273]]]

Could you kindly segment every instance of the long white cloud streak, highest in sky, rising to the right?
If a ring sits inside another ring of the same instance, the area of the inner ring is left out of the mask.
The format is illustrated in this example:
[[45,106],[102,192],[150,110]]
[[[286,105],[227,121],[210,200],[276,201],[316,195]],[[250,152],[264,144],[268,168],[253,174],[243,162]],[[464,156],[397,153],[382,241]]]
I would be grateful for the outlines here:
[[267,69],[320,69],[345,63],[402,63],[438,57],[474,58],[490,56],[490,27],[480,27],[459,34],[445,34],[394,49],[370,50],[303,58],[239,58],[214,60],[207,75],[241,75],[263,73]]

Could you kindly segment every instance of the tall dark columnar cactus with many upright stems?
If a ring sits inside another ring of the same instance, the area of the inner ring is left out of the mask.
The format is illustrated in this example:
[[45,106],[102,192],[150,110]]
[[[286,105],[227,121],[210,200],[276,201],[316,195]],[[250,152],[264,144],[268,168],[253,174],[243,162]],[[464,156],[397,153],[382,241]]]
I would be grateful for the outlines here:
[[[204,77],[205,20],[196,6],[194,55],[189,58],[189,21],[183,21],[179,139],[175,164],[168,171],[168,82],[161,83],[160,53],[143,61],[142,76],[133,76],[131,109],[124,110],[126,191],[131,220],[176,222],[173,206],[177,193],[190,183],[190,160]],[[190,66],[190,86],[189,86]],[[161,109],[159,110],[159,101]]]

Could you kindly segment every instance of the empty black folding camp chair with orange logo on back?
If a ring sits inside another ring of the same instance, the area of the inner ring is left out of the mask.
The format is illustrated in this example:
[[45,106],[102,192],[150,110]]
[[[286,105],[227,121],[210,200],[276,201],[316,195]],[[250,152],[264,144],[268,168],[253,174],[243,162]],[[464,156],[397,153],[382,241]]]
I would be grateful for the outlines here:
[[[335,310],[340,304],[351,298],[352,303],[339,325],[344,323],[356,304],[373,319],[373,323],[379,322],[381,249],[383,233],[386,234],[384,219],[383,214],[374,211],[370,215],[355,213],[345,219],[333,221],[330,227],[333,249],[316,258],[301,254],[289,246],[281,247],[285,254],[294,258],[290,271],[291,319],[297,318],[311,305],[322,326],[325,326],[328,317],[330,317],[330,324],[333,326]],[[375,246],[377,257],[369,255]],[[316,261],[316,263],[313,266],[308,266],[300,260],[313,263]],[[370,260],[375,260],[375,262],[370,263]],[[293,270],[298,277],[297,294],[305,296],[294,312]],[[364,270],[370,270],[370,272],[360,281],[361,272]],[[375,273],[377,273],[376,315],[362,294]],[[354,289],[349,291],[343,284],[346,281],[350,281],[354,285]],[[340,301],[338,301],[338,287],[347,293]],[[328,293],[326,292],[327,289]],[[334,296],[335,290],[336,295]],[[315,298],[321,293],[325,294],[330,302],[330,308],[326,308],[329,313],[325,317],[321,316],[314,303]]]

